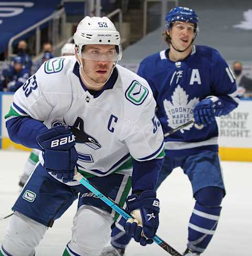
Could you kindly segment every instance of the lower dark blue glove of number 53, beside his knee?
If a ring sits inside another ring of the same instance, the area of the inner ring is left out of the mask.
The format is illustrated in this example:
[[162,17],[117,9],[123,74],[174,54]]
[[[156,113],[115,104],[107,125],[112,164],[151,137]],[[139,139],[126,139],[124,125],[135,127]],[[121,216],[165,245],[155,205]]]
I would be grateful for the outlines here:
[[145,246],[153,243],[156,230],[159,227],[159,200],[156,192],[146,190],[140,196],[132,194],[128,196],[127,209],[134,217],[128,219],[124,229],[136,242]]

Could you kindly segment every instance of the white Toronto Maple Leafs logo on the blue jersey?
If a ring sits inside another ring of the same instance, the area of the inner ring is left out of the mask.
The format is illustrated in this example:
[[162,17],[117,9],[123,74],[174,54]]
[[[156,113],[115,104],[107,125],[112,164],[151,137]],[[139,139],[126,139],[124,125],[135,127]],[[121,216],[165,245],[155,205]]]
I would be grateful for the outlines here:
[[[167,125],[172,129],[193,119],[193,109],[198,103],[198,98],[194,97],[188,102],[188,95],[178,84],[172,95],[172,101],[164,100],[164,110],[167,115]],[[180,131],[190,130],[193,123],[184,127]]]

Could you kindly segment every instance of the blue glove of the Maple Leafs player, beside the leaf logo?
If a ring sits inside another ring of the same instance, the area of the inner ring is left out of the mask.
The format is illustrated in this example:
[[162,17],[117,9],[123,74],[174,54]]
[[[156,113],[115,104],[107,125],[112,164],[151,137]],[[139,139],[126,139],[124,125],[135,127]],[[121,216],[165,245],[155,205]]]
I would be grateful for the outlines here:
[[218,97],[211,96],[198,102],[194,107],[194,120],[197,125],[207,126],[215,121],[215,116],[220,116],[223,103]]

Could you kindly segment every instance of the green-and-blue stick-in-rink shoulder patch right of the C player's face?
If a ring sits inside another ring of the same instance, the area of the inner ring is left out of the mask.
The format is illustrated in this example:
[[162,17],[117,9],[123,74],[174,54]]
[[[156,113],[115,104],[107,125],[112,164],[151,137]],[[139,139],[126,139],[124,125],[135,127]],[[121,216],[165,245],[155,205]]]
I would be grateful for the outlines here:
[[149,94],[148,88],[140,84],[138,81],[132,81],[131,85],[125,92],[125,97],[134,105],[141,105]]

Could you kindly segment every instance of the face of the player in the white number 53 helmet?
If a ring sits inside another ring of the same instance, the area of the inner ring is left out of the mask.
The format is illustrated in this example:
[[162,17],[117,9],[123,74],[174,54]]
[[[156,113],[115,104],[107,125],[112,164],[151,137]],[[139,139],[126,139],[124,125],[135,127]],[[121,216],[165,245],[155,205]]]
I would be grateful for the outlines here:
[[98,84],[105,83],[111,74],[114,56],[117,54],[115,46],[85,45],[81,54],[83,76]]

